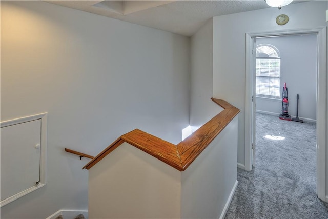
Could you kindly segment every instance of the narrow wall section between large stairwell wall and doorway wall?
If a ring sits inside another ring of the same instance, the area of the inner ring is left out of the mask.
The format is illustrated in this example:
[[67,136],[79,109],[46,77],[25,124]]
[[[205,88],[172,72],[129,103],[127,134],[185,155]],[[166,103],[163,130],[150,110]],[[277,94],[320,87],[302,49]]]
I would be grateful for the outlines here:
[[[220,112],[213,97],[213,19],[190,40],[190,125],[193,131]],[[224,98],[223,98],[224,99]]]

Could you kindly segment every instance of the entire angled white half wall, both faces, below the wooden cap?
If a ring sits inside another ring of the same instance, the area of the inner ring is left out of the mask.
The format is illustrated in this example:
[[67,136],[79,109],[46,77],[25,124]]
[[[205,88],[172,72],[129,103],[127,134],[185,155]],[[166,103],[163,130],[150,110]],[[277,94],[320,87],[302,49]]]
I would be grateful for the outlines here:
[[237,188],[235,117],[185,171],[123,143],[89,169],[89,218],[224,218]]

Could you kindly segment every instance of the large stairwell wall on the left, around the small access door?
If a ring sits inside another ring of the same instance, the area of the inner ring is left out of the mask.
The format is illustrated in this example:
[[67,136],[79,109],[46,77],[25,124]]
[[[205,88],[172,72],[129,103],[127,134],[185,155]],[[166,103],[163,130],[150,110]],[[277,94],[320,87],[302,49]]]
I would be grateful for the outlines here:
[[189,125],[189,38],[45,2],[1,1],[1,121],[48,112],[47,185],[1,208],[46,218],[88,208],[89,161],[139,128]]

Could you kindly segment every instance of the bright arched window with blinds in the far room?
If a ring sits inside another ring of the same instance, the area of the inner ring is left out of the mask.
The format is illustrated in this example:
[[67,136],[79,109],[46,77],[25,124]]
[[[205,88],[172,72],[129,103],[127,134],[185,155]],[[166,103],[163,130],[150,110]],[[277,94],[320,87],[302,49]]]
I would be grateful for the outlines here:
[[280,99],[280,53],[269,44],[256,47],[256,96]]

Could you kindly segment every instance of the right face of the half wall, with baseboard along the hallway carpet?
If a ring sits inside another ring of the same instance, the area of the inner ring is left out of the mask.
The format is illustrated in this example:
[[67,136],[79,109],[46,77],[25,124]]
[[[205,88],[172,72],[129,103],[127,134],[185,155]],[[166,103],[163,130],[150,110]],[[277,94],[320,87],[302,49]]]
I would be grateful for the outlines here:
[[237,126],[235,117],[181,173],[181,218],[226,215],[237,185]]

